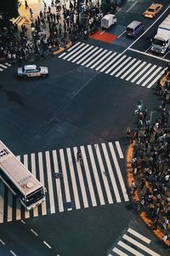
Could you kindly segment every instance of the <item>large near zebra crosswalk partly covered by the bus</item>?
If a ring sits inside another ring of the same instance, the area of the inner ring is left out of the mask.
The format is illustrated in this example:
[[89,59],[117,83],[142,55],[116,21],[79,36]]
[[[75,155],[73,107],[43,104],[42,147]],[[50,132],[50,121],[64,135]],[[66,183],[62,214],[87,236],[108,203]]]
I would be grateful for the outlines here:
[[[77,151],[82,162],[77,161]],[[28,212],[1,182],[0,223],[129,201],[118,141],[17,157],[46,187],[46,201]]]

